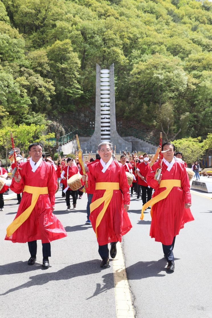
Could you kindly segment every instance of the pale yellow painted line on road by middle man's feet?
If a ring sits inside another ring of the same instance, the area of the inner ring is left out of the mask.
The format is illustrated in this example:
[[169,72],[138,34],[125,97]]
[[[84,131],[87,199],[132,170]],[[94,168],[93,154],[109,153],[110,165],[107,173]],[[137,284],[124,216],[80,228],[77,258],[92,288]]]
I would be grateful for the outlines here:
[[133,304],[130,295],[129,284],[124,264],[121,244],[116,244],[117,255],[113,259],[113,277],[115,286],[115,301],[116,301],[116,317],[127,318],[135,317]]

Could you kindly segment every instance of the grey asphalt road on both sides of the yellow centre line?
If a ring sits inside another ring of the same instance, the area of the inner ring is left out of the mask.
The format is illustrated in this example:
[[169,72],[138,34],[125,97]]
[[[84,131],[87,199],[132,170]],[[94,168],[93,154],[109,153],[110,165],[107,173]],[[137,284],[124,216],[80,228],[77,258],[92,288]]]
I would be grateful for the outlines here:
[[[7,196],[4,196],[7,198]],[[86,221],[86,195],[77,210],[66,212],[61,190],[55,215],[68,236],[51,243],[50,268],[42,269],[42,245],[28,266],[27,244],[4,241],[17,199],[5,201],[1,212],[0,317],[116,317],[113,264],[101,269],[98,245]],[[185,225],[174,246],[175,271],[167,273],[161,243],[149,236],[150,210],[140,220],[141,199],[131,198],[133,228],[123,239],[123,252],[137,318],[208,318],[211,297],[211,198],[192,193],[195,221]]]

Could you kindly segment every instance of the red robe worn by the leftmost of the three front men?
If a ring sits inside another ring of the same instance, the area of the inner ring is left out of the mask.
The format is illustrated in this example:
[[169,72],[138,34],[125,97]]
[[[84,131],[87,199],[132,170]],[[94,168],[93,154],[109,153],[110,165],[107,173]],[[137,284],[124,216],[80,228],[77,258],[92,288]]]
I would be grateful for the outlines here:
[[[54,167],[42,161],[35,172],[32,172],[30,162],[21,163],[19,166],[21,181],[15,182],[14,178],[10,189],[15,193],[21,193],[24,186],[48,187],[48,194],[41,194],[32,210],[29,218],[5,240],[13,243],[25,243],[34,240],[42,240],[42,243],[49,243],[56,239],[67,236],[63,225],[52,213],[51,207],[55,204],[55,190],[57,190],[57,179]],[[32,194],[23,192],[21,203],[18,207],[15,219],[31,205]]]

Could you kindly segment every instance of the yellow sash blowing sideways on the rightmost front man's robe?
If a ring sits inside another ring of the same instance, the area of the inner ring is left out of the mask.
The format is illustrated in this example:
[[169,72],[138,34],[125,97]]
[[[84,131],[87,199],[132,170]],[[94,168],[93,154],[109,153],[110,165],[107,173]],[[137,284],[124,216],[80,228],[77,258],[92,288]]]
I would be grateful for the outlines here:
[[[143,220],[144,218],[144,210],[148,208],[148,206],[155,204],[163,199],[165,199],[172,188],[174,187],[181,187],[181,180],[161,180],[160,187],[159,188],[166,188],[166,190],[162,191],[160,194],[158,194],[156,197],[153,197],[151,200],[149,200],[147,203],[145,203],[141,210],[141,216],[140,219]],[[152,214],[151,214],[152,215]]]

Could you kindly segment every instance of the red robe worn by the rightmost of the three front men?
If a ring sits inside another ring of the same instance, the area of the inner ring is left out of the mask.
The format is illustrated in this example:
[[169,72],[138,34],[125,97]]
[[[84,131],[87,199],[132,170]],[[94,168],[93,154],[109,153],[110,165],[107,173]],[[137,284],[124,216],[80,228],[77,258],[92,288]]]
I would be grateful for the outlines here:
[[[174,159],[173,159],[174,160]],[[166,188],[159,188],[154,180],[155,170],[159,168],[159,162],[155,162],[147,174],[147,183],[155,189],[153,196],[157,196]],[[164,245],[171,245],[174,236],[179,234],[184,224],[193,221],[190,209],[185,209],[185,203],[191,203],[190,183],[183,163],[174,161],[170,171],[162,162],[162,180],[181,180],[181,187],[173,187],[168,196],[152,206],[152,223],[150,236],[155,241]],[[152,172],[151,172],[152,171]]]

